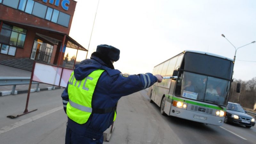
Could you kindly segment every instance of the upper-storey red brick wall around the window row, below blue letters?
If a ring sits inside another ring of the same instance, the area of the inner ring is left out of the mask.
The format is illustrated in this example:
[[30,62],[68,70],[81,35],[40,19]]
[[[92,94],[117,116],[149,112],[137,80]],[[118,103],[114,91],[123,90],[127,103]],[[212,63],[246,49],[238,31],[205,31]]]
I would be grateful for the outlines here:
[[[61,1],[62,0],[60,0],[60,3],[61,3]],[[13,22],[24,23],[24,24],[29,24],[29,25],[36,25],[36,26],[50,28],[50,29],[54,29],[56,31],[60,31],[60,32],[69,34],[70,27],[71,27],[72,20],[73,20],[73,15],[74,15],[75,8],[76,8],[76,1],[70,0],[70,4],[68,5],[68,11],[64,10],[61,7],[61,4],[58,7],[55,6],[54,4],[50,4],[49,0],[48,0],[48,3],[44,3],[42,0],[35,0],[35,2],[44,4],[53,9],[59,10],[60,12],[69,14],[70,20],[69,20],[68,28],[61,26],[59,24],[53,23],[49,20],[45,20],[45,19],[36,17],[34,15],[28,14],[26,12],[5,6],[3,4],[0,4],[0,20],[13,21]]]

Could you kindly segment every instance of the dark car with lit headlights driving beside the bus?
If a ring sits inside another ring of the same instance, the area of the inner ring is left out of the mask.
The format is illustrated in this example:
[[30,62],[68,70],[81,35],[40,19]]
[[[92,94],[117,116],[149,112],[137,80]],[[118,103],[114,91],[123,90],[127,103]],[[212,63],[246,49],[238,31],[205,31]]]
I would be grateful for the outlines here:
[[255,119],[246,114],[246,111],[238,103],[228,102],[225,123],[235,123],[251,128],[255,125]]

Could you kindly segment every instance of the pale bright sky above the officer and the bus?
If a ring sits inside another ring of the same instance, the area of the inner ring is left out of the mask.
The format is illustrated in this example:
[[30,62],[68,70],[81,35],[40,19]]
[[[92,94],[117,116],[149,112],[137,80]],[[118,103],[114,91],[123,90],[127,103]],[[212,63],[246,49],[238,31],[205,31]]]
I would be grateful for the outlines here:
[[[98,10],[98,0],[76,1],[69,35],[88,49],[92,33],[87,58],[99,44],[118,48],[122,73],[152,73],[184,50],[233,59],[236,49],[221,34],[236,48],[256,41],[255,0],[100,0]],[[234,78],[256,77],[255,54],[256,43],[237,50]]]

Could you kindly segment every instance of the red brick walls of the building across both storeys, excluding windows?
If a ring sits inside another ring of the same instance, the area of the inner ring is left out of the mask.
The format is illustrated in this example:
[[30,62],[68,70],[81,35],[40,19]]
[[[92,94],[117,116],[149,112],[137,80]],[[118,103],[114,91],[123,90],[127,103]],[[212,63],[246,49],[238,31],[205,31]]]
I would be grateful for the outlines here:
[[[56,34],[54,32],[49,32],[47,30],[43,30],[40,28],[30,27],[29,25],[38,26],[38,27],[46,28],[46,29],[53,30],[53,31],[59,31],[59,32],[62,32],[62,33],[65,33],[68,35],[69,31],[70,31],[71,24],[72,24],[75,8],[76,8],[76,1],[69,0],[70,4],[68,5],[67,11],[64,10],[61,6],[62,0],[60,0],[59,6],[50,4],[49,3],[50,0],[47,0],[47,3],[44,3],[43,0],[34,0],[34,1],[44,4],[48,7],[51,7],[52,9],[56,9],[56,10],[59,10],[60,12],[64,12],[64,13],[70,15],[68,27],[61,26],[61,25],[51,22],[49,20],[45,20],[45,19],[39,18],[37,16],[34,16],[32,14],[28,14],[26,12],[20,11],[18,9],[8,7],[4,4],[0,4],[0,21],[3,20],[3,21],[5,21],[4,23],[6,23],[8,25],[17,26],[17,27],[24,28],[27,30],[24,47],[23,48],[17,47],[15,56],[9,56],[9,55],[0,53],[0,60],[30,58],[35,37],[37,37],[36,33],[39,33],[41,35],[49,36],[49,37],[60,40],[58,45],[53,45],[54,48],[53,48],[52,58],[51,58],[51,62],[50,62],[51,64],[57,64],[58,56],[61,53],[60,45],[61,45],[61,42],[63,41],[64,35]],[[54,2],[55,2],[55,0],[54,0]],[[23,24],[25,24],[25,25],[23,25]],[[0,31],[1,31],[1,29],[0,29]],[[65,44],[66,43],[67,43],[67,40],[65,41]],[[60,59],[61,63],[63,61],[63,57],[64,57],[64,53],[62,53],[62,56]]]

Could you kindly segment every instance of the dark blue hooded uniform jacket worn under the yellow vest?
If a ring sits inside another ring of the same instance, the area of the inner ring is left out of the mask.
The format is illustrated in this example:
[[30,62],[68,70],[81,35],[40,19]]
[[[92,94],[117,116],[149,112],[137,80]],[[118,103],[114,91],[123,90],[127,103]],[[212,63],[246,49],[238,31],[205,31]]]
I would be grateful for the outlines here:
[[[82,80],[96,69],[104,69],[95,87],[92,97],[92,108],[115,107],[122,97],[146,89],[157,82],[151,73],[123,76],[117,69],[108,68],[98,57],[83,60],[74,69],[76,80]],[[68,103],[68,85],[61,94],[63,107],[66,112]],[[118,112],[118,109],[117,109]],[[118,118],[118,114],[117,114]],[[68,127],[81,136],[99,139],[103,132],[113,123],[114,112],[92,114],[85,124],[77,124],[68,118]]]

